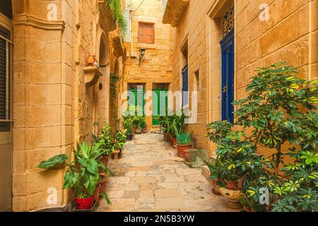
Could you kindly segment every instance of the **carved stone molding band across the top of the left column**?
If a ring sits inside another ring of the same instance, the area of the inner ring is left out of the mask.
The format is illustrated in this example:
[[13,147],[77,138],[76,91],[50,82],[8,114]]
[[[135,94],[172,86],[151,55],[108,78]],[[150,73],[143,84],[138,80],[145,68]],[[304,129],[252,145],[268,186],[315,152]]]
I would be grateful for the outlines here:
[[14,25],[30,25],[35,28],[42,28],[45,30],[64,30],[65,22],[63,20],[42,20],[35,16],[29,16],[28,14],[19,14],[14,16]]

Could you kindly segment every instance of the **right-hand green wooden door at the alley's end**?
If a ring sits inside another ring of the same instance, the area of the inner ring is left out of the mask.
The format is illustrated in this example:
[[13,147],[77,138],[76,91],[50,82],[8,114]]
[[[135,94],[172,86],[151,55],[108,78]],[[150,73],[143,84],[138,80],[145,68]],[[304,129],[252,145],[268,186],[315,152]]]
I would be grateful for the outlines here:
[[153,90],[153,126],[160,126],[159,115],[165,115],[167,112],[167,91],[165,89]]

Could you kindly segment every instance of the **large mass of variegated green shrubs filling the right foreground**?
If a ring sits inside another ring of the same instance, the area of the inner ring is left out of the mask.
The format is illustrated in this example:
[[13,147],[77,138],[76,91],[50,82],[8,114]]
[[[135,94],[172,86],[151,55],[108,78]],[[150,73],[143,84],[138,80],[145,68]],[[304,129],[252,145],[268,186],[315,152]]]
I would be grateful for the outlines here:
[[[218,177],[244,178],[241,203],[255,211],[317,211],[317,81],[295,73],[284,63],[257,69],[247,98],[234,102],[235,126],[251,131],[250,136],[232,131],[226,122],[208,124],[207,136],[217,144],[218,160],[225,166]],[[273,150],[270,160],[257,155],[259,147]],[[286,165],[287,156],[293,162]],[[269,206],[259,205],[264,187],[271,194]]]

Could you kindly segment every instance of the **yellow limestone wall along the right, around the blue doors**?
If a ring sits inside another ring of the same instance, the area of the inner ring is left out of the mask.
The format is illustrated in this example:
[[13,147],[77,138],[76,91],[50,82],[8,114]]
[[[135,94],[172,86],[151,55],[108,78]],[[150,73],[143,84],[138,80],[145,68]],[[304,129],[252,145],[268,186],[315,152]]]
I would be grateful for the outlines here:
[[[235,98],[257,67],[277,61],[296,66],[302,78],[317,78],[317,0],[191,0],[173,31],[173,90],[181,90],[182,44],[189,46],[189,90],[199,70],[198,121],[189,125],[196,148],[208,143],[205,125],[220,119],[220,18],[235,6]],[[269,4],[269,21],[259,20],[259,6]]]

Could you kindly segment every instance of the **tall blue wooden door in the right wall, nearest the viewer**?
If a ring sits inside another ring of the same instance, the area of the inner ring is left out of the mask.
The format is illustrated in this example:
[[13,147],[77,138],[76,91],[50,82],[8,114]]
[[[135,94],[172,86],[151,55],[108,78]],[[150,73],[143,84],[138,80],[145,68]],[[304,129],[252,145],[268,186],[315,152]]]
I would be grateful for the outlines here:
[[234,30],[220,42],[222,47],[222,120],[234,122]]

